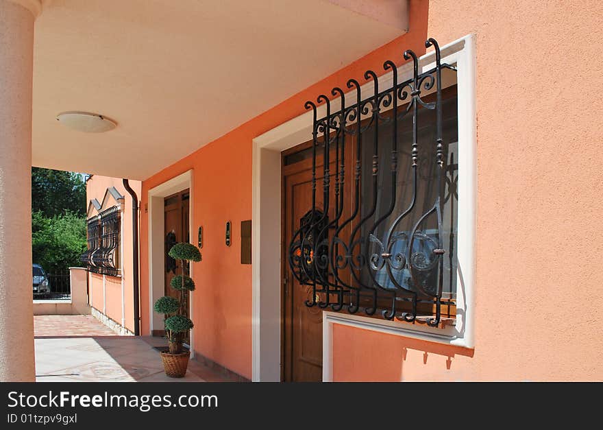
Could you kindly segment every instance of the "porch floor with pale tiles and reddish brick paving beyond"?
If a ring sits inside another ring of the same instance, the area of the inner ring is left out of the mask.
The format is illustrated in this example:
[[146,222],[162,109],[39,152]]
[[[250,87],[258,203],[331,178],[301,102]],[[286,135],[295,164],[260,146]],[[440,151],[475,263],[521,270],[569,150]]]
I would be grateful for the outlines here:
[[92,315],[36,315],[36,381],[228,382],[190,360],[186,376],[166,376],[155,346],[161,337],[119,336]]

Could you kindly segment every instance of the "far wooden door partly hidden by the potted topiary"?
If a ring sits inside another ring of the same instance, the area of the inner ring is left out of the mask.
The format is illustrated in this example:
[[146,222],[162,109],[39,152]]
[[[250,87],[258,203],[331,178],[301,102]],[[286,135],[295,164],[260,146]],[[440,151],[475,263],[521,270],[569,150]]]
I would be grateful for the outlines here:
[[[190,193],[188,189],[164,198],[164,240],[165,240],[165,295],[180,298],[180,291],[170,287],[170,281],[176,275],[182,274],[181,262],[168,255],[175,243],[189,241],[188,202]],[[184,265],[184,274],[188,275],[188,262]],[[186,309],[188,315],[188,294],[186,294]],[[188,342],[188,339],[187,339]]]

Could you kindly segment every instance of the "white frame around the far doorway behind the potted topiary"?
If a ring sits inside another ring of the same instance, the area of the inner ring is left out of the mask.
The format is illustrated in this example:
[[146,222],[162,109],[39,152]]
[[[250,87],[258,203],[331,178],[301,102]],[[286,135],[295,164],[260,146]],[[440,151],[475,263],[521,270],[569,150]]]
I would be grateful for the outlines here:
[[[153,311],[155,300],[165,295],[164,274],[164,198],[185,189],[190,190],[188,201],[188,223],[190,238],[193,235],[193,169],[175,176],[170,180],[149,189],[149,329],[163,330],[161,315]],[[190,276],[193,277],[193,265],[190,265]],[[193,300],[195,291],[190,291],[188,300],[188,315],[193,316]],[[193,330],[190,331],[190,357],[195,357]]]

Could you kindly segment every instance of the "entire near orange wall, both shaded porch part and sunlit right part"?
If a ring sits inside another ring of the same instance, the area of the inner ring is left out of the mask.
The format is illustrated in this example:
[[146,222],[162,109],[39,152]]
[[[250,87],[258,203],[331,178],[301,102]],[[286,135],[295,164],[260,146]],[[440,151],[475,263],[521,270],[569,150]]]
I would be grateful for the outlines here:
[[[603,174],[595,163],[603,109],[599,1],[411,1],[410,31],[143,181],[194,169],[195,349],[251,377],[251,266],[239,262],[239,223],[251,218],[251,140],[304,112],[304,101],[476,34],[478,230],[476,347],[334,326],[334,380],[603,379],[600,264]],[[576,103],[576,99],[580,102]],[[593,146],[594,145],[594,146]],[[598,184],[598,186],[593,186]],[[232,221],[233,243],[224,246]],[[148,218],[141,214],[141,307],[149,332]],[[194,233],[193,233],[194,237]],[[275,267],[275,270],[279,270]],[[369,351],[367,353],[367,351]]]

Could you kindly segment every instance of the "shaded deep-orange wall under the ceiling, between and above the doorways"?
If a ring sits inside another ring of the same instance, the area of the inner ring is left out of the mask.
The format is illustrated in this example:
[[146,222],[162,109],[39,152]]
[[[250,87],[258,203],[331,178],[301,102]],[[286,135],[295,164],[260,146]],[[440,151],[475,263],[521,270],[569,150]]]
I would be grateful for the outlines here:
[[[368,53],[143,181],[144,206],[148,202],[149,189],[184,171],[194,170],[195,232],[198,226],[204,227],[203,261],[194,263],[193,271],[197,284],[193,299],[193,335],[197,353],[251,379],[251,265],[241,265],[239,229],[241,221],[251,219],[252,139],[304,113],[306,100],[330,92],[333,86],[345,88],[349,77],[362,79],[369,68],[382,71],[385,58],[402,62],[402,52],[408,45],[418,53],[424,52],[426,2],[411,2],[410,23],[408,34]],[[144,239],[140,243],[143,333],[149,333],[149,311],[144,305],[149,303],[147,215],[143,211],[141,234]],[[224,245],[227,220],[233,226],[230,247]],[[278,267],[275,270],[279,270]]]

